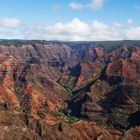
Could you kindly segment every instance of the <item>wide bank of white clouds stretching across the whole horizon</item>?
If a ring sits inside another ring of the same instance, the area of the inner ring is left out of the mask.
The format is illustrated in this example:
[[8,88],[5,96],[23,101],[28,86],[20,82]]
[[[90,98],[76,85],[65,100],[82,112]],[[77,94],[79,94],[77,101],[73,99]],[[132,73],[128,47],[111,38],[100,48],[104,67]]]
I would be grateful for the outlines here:
[[125,22],[108,25],[98,20],[86,23],[75,18],[70,22],[57,22],[54,25],[20,24],[15,28],[0,26],[0,38],[63,41],[140,39],[140,26],[132,25],[126,26]]

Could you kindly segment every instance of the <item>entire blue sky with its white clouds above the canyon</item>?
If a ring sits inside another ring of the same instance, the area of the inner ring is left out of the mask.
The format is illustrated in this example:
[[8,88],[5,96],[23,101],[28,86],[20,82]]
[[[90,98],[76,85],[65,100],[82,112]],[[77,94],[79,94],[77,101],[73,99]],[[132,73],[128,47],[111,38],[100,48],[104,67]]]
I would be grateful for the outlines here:
[[0,0],[0,38],[139,39],[139,13],[140,0]]

